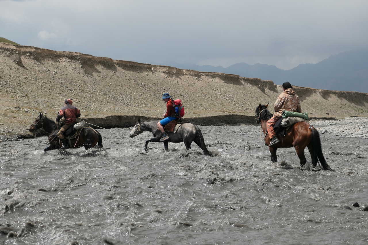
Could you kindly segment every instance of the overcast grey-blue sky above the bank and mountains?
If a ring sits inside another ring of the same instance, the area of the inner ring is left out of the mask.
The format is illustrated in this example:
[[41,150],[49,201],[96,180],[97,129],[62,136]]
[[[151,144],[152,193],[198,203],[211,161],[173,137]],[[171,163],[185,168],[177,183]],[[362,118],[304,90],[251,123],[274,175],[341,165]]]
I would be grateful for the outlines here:
[[367,48],[367,0],[0,0],[0,37],[151,64],[289,70]]

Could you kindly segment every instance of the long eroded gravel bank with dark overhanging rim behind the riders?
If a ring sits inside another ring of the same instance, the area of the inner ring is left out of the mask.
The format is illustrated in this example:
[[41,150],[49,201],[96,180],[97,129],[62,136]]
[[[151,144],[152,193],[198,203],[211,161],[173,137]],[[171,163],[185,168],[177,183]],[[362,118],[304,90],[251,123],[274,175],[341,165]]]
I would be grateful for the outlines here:
[[[367,93],[294,88],[312,117],[368,116]],[[183,101],[186,118],[231,115],[238,122],[253,117],[259,103],[272,110],[282,88],[259,78],[0,43],[0,134],[29,127],[39,111],[54,118],[67,97],[83,118],[159,118],[164,92]]]

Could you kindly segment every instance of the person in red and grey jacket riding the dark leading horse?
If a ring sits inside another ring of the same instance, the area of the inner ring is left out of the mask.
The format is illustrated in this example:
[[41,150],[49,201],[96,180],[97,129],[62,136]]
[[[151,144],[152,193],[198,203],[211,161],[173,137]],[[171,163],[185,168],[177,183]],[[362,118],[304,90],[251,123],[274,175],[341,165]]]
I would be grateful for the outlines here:
[[63,147],[61,147],[60,149],[70,148],[68,146],[68,140],[65,138],[64,133],[75,123],[76,118],[81,116],[81,112],[79,111],[79,109],[73,106],[72,103],[73,101],[71,99],[66,99],[65,106],[60,109],[59,113],[57,113],[57,123],[59,123],[61,118],[65,118],[65,123],[63,127],[61,127],[59,132],[57,133],[57,136],[61,139],[61,142],[63,142]]

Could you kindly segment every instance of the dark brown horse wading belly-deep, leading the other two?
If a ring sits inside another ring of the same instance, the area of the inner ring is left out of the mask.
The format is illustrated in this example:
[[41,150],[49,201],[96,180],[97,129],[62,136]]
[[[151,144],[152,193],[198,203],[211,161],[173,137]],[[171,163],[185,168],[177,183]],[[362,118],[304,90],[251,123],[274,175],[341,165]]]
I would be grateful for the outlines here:
[[[48,150],[59,149],[63,146],[63,143],[60,141],[59,137],[56,135],[59,132],[58,125],[51,119],[44,116],[42,113],[36,118],[36,120],[32,123],[31,127],[29,127],[29,131],[35,131],[35,129],[42,128],[46,134],[47,139],[49,140],[50,146],[45,148],[45,152]],[[102,137],[101,134],[90,127],[85,127],[82,129],[81,133],[78,137],[74,139],[70,139],[70,148],[79,148],[84,146],[86,150],[94,147],[97,143],[97,148],[102,148]]]

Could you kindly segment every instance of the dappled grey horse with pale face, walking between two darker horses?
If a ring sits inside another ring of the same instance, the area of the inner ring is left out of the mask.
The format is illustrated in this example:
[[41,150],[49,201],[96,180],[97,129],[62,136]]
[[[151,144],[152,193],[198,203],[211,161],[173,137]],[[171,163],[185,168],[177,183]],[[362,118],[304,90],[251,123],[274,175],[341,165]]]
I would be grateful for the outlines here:
[[[162,132],[158,129],[157,122],[143,122],[141,119],[138,119],[138,122],[134,125],[129,136],[133,138],[134,136],[141,134],[143,131],[152,132],[153,137],[155,137],[146,140],[144,150],[147,151],[148,142],[160,142]],[[170,138],[163,142],[165,150],[169,150],[169,142],[184,142],[185,148],[189,150],[191,149],[191,143],[194,141],[203,150],[205,155],[212,156],[212,154],[207,150],[201,129],[199,129],[197,125],[192,123],[183,123],[175,133],[168,132],[167,134]]]

